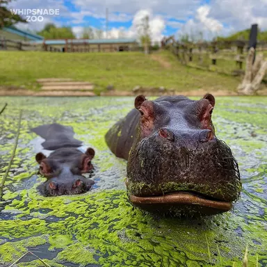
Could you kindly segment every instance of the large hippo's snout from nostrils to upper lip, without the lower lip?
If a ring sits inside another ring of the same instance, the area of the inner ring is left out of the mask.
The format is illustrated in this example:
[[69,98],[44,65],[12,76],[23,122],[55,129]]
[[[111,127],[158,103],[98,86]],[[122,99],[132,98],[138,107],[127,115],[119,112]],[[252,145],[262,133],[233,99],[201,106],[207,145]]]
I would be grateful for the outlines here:
[[129,193],[146,197],[190,191],[235,201],[241,181],[231,150],[223,141],[209,140],[209,130],[194,135],[194,142],[190,142],[163,128],[159,135],[145,138],[129,156]]

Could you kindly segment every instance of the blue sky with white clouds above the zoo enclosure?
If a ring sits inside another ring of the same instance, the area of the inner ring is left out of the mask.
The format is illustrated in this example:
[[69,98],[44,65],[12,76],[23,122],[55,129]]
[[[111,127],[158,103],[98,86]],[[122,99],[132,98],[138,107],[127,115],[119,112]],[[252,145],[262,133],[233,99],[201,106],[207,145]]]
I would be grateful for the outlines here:
[[9,8],[58,10],[59,15],[44,15],[42,22],[17,26],[40,31],[53,22],[56,26],[71,26],[77,38],[88,26],[106,31],[106,8],[107,38],[136,38],[145,15],[149,15],[153,41],[169,35],[179,38],[186,33],[192,38],[202,33],[211,39],[248,29],[254,23],[267,30],[267,0],[18,0],[12,1]]

